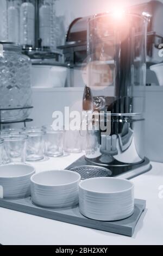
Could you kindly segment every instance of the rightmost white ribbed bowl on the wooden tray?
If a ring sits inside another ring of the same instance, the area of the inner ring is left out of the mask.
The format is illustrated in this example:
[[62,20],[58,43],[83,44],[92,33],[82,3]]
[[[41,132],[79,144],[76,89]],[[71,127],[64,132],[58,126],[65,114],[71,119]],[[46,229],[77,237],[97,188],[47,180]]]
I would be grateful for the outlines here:
[[134,185],[117,178],[92,178],[79,184],[79,210],[94,220],[117,221],[134,212]]

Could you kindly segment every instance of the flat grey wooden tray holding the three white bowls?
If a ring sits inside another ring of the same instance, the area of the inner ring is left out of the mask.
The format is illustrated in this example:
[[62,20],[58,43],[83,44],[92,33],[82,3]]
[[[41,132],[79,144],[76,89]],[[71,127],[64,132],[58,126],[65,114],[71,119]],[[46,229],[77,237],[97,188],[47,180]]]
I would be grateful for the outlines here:
[[23,199],[0,199],[0,207],[32,214],[40,217],[49,218],[55,221],[81,225],[87,228],[93,228],[111,233],[132,236],[137,221],[146,208],[146,201],[135,199],[135,211],[129,218],[121,221],[95,221],[84,217],[79,212],[79,207],[64,209],[46,209],[40,208],[32,203],[30,197]]

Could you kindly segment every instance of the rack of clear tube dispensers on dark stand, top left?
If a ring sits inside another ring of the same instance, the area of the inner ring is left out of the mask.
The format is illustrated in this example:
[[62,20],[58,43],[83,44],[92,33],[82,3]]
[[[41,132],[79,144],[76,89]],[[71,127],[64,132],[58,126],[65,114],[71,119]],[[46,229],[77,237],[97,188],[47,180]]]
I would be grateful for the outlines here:
[[30,58],[39,52],[41,59],[51,56],[58,61],[62,52],[57,46],[65,37],[65,28],[62,16],[55,15],[55,1],[4,0],[1,41],[21,44]]

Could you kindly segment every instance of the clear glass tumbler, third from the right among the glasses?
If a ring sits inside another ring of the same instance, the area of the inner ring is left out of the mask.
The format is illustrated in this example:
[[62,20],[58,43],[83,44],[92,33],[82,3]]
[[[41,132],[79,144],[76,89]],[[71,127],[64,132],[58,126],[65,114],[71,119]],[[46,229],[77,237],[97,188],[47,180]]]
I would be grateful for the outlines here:
[[43,154],[43,134],[38,130],[25,130],[23,134],[27,135],[26,160],[39,161],[44,158]]

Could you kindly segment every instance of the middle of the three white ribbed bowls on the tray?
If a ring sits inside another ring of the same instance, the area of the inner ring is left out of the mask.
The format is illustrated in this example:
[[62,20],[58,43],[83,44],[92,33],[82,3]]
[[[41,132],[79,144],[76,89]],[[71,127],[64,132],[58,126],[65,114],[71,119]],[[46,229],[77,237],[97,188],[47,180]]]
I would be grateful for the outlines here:
[[78,204],[80,175],[70,170],[49,170],[31,177],[32,201],[45,208]]

